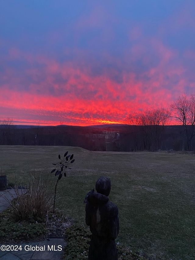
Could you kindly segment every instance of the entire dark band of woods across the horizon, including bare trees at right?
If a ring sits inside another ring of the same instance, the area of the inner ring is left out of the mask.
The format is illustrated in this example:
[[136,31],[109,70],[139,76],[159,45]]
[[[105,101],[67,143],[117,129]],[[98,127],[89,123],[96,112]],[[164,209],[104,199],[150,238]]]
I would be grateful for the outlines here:
[[[174,120],[174,121],[173,121]],[[170,126],[172,122],[175,126]],[[195,94],[184,93],[169,109],[129,113],[126,126],[108,129],[82,126],[34,126],[19,128],[10,118],[0,121],[0,145],[80,146],[92,151],[195,151]],[[100,138],[103,131],[120,133],[119,138]]]

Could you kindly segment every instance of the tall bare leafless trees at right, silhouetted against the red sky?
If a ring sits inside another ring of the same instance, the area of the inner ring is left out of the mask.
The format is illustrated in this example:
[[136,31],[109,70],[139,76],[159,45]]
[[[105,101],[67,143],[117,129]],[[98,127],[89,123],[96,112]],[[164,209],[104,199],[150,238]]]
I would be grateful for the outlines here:
[[[186,93],[179,96],[171,105],[170,109],[158,108],[136,113],[129,113],[126,124],[133,136],[134,151],[164,150],[164,136],[170,122],[182,125],[182,151],[193,151],[193,139],[195,136],[195,94]],[[137,127],[141,131],[137,133]]]

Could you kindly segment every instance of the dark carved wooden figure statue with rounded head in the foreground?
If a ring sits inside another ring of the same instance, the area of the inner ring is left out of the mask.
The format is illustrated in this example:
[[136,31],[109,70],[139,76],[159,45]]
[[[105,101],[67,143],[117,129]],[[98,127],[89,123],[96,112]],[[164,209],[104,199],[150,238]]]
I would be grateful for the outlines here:
[[92,233],[88,260],[118,260],[115,239],[119,234],[117,206],[110,202],[108,195],[111,182],[108,177],[100,177],[86,198],[85,221]]

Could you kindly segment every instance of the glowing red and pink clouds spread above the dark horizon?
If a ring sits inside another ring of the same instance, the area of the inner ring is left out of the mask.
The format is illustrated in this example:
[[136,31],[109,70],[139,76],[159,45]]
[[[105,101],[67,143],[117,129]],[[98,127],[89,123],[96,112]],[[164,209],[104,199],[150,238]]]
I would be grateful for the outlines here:
[[[168,108],[185,92],[186,85],[193,90],[194,84],[186,77],[176,51],[157,39],[145,41],[152,46],[159,62],[139,73],[127,71],[122,61],[107,54],[108,62],[116,67],[105,66],[101,73],[94,74],[84,60],[59,63],[44,55],[33,56],[12,48],[7,60],[20,60],[29,66],[22,70],[5,67],[0,98],[2,118],[51,125],[61,120],[65,124],[92,125],[123,123],[129,112]],[[137,58],[144,66],[151,62],[143,45],[133,45],[129,53],[126,63]]]

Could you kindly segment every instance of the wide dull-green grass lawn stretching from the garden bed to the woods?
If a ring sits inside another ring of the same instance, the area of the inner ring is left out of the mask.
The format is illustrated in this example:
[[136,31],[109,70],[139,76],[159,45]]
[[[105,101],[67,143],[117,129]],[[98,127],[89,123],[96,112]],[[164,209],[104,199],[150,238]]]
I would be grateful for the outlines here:
[[[59,181],[57,207],[85,223],[85,195],[100,176],[111,179],[125,243],[151,259],[195,259],[195,155],[97,152],[68,146],[0,146],[0,168],[18,183],[35,171],[47,176],[58,155],[74,153]],[[50,174],[53,183],[57,180]],[[51,186],[52,188],[52,186]]]

